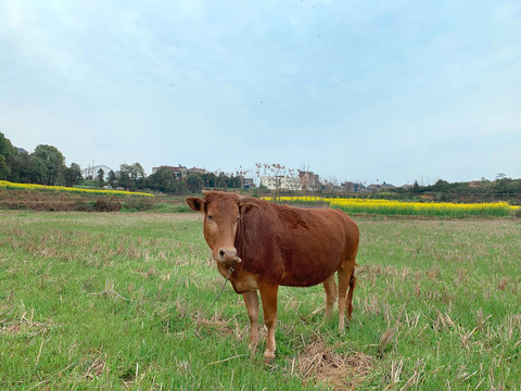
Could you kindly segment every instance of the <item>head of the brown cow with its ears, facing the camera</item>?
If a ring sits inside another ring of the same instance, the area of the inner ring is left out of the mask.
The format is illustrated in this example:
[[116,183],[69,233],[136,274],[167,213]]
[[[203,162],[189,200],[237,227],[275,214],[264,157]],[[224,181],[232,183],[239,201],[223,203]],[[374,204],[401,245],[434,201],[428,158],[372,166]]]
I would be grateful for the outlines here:
[[204,198],[190,197],[188,205],[204,213],[204,239],[217,262],[241,262],[234,245],[237,227],[243,216],[259,206],[234,193],[205,191]]

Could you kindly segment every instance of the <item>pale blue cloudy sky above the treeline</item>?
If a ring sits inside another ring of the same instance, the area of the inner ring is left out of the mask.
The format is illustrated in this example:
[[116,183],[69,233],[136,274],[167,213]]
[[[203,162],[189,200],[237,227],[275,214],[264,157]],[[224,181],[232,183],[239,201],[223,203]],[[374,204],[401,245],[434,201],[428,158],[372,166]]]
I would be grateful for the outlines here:
[[0,1],[0,131],[117,169],[521,177],[519,1]]

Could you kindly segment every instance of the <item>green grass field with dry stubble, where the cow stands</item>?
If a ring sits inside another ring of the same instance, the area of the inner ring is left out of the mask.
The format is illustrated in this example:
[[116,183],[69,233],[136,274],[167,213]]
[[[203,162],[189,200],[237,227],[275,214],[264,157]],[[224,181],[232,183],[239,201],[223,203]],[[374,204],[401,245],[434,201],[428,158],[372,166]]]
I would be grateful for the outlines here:
[[348,330],[281,288],[277,360],[194,214],[0,212],[0,389],[521,390],[521,225],[359,217]]

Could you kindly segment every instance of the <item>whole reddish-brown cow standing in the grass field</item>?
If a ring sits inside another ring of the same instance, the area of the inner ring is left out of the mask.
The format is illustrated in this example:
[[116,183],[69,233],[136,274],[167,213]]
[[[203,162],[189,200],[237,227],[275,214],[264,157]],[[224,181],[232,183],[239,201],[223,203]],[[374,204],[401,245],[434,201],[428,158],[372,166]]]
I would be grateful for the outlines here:
[[[204,238],[224,277],[234,265],[230,281],[242,293],[250,317],[252,355],[258,343],[258,298],[268,329],[266,360],[275,357],[275,323],[279,286],[310,287],[323,282],[326,317],[336,300],[334,273],[339,274],[339,330],[344,314],[351,319],[355,289],[355,257],[359,234],[342,211],[306,210],[207,191],[187,203],[204,213]],[[350,292],[346,298],[347,286]]]

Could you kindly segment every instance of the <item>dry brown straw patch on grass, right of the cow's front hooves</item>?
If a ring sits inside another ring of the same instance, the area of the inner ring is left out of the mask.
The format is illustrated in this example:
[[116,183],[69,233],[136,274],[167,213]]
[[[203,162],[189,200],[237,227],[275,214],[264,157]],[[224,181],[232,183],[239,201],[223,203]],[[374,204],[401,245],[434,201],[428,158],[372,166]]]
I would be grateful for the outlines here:
[[321,381],[333,390],[354,390],[373,367],[373,358],[363,352],[335,353],[326,342],[315,341],[298,353],[298,375]]

